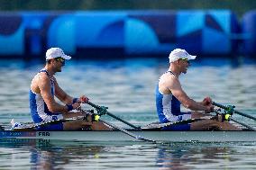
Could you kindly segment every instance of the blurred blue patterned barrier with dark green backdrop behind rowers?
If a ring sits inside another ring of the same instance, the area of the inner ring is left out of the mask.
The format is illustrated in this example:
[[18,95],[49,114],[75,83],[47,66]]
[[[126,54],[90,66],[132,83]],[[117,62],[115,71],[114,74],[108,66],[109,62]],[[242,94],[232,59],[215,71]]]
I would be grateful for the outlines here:
[[161,57],[176,48],[256,53],[256,3],[249,0],[0,2],[1,58],[40,58],[50,47],[76,58]]

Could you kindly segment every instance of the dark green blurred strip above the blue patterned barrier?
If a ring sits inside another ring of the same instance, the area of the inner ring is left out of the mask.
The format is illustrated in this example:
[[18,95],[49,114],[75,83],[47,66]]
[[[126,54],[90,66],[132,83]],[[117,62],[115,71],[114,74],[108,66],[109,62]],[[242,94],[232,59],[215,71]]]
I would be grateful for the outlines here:
[[1,0],[1,11],[20,10],[140,10],[230,9],[239,17],[255,9],[251,0]]

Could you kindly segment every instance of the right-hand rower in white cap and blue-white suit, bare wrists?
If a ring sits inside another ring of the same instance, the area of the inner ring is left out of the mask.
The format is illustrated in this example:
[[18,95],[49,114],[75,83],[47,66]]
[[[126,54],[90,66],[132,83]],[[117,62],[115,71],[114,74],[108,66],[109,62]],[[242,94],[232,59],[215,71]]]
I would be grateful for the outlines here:
[[[181,73],[186,74],[190,66],[189,60],[195,59],[185,49],[174,49],[169,54],[169,69],[160,76],[156,87],[156,107],[161,123],[198,119],[213,112],[212,99],[206,97],[202,102],[196,102],[189,98],[182,89],[178,77]],[[180,112],[180,103],[192,111],[203,112]],[[205,112],[205,113],[204,113]],[[228,121],[202,120],[182,125],[173,125],[163,130],[239,130]]]

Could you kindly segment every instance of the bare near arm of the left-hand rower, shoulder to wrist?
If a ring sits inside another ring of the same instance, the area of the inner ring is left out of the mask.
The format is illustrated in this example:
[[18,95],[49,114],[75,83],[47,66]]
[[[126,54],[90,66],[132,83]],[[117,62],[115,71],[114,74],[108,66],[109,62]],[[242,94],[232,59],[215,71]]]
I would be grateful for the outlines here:
[[61,105],[54,100],[50,92],[50,78],[45,73],[40,73],[38,76],[38,86],[41,92],[41,96],[50,112],[68,112],[68,107]]

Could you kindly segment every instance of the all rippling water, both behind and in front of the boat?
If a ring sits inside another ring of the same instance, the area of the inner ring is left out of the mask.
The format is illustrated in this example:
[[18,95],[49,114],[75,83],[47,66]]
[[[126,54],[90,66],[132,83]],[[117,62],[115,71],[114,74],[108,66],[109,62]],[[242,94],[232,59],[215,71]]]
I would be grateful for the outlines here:
[[[43,67],[22,60],[0,61],[0,124],[32,121],[28,91],[32,76]],[[111,61],[70,61],[56,75],[68,94],[87,94],[91,102],[109,107],[109,112],[144,125],[158,121],[154,89],[168,61],[131,58]],[[245,59],[237,65],[228,58],[192,63],[181,76],[188,96],[200,101],[235,104],[236,109],[256,115],[256,62]],[[84,105],[88,108],[87,105]],[[185,109],[184,109],[185,110]],[[125,127],[123,123],[104,117]],[[249,124],[253,121],[234,118]],[[0,169],[255,169],[255,143],[95,143],[50,141],[1,141]]]

